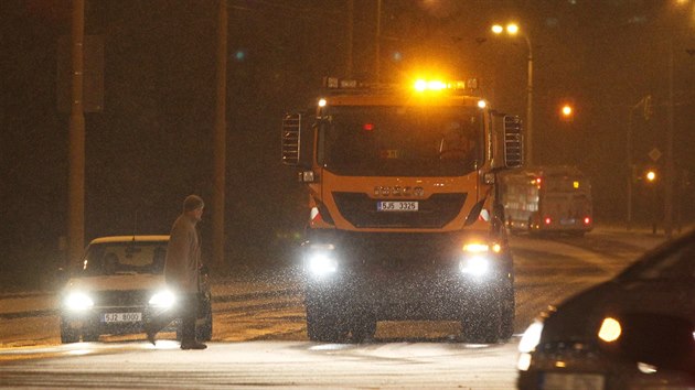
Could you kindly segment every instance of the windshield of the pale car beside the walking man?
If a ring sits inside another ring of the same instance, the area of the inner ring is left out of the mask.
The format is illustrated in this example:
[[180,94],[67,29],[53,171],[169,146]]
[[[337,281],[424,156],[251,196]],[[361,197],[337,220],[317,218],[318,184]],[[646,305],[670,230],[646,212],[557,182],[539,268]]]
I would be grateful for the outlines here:
[[162,273],[167,241],[128,241],[92,243],[83,262],[88,277]]

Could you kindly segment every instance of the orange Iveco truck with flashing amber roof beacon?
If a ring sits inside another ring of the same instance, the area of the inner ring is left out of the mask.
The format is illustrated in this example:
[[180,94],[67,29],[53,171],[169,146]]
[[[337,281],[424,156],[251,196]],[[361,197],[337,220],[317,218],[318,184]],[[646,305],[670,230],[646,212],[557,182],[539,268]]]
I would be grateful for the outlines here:
[[511,337],[498,175],[522,165],[522,126],[477,84],[325,78],[313,107],[284,117],[282,162],[308,188],[311,340],[368,340],[379,321],[457,321],[467,343]]

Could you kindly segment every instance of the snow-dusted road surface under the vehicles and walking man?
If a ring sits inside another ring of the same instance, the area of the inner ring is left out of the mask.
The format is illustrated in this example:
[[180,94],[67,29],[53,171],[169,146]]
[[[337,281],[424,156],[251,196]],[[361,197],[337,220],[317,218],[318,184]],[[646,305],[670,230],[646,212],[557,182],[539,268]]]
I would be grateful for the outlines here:
[[180,350],[173,334],[60,345],[55,296],[0,300],[4,388],[512,389],[518,334],[548,304],[611,278],[663,239],[595,231],[585,238],[511,238],[517,334],[506,344],[459,343],[459,324],[383,322],[368,344],[307,339],[291,269],[220,280],[209,349]]

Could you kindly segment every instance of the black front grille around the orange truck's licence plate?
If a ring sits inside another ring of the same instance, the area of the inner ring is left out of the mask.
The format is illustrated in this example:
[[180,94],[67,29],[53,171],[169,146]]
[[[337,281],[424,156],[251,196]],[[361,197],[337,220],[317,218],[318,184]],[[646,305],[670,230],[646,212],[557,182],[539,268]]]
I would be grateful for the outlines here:
[[417,199],[418,212],[385,213],[377,212],[378,201],[364,193],[333,193],[340,214],[357,228],[441,228],[461,212],[466,196],[466,193],[434,194],[428,199]]

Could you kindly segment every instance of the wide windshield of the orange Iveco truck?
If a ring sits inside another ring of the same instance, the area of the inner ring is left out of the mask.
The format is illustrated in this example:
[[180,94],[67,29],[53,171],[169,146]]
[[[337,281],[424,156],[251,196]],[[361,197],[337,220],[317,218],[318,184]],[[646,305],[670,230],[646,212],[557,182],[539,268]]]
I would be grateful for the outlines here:
[[331,107],[319,163],[342,175],[464,175],[482,158],[482,119],[461,107]]

